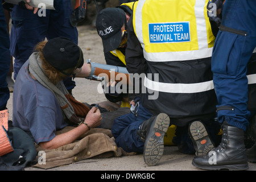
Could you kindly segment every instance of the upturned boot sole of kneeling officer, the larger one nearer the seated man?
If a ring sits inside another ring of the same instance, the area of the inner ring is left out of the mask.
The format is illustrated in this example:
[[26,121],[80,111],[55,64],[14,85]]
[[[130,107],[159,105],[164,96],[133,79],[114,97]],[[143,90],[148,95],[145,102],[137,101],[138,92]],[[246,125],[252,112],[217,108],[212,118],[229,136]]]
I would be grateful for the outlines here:
[[167,114],[160,113],[151,122],[147,129],[144,142],[143,158],[148,166],[155,166],[163,156],[164,134],[170,125],[170,118]]

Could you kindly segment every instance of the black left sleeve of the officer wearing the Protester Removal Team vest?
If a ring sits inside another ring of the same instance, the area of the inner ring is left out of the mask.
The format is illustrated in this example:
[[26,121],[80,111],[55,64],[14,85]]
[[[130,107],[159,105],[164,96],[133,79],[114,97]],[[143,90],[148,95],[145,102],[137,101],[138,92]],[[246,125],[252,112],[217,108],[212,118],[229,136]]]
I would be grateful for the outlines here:
[[130,16],[130,19],[127,23],[127,48],[125,51],[125,62],[126,68],[129,73],[146,73],[147,63],[143,57],[143,49],[141,43],[134,32],[133,27],[133,15]]

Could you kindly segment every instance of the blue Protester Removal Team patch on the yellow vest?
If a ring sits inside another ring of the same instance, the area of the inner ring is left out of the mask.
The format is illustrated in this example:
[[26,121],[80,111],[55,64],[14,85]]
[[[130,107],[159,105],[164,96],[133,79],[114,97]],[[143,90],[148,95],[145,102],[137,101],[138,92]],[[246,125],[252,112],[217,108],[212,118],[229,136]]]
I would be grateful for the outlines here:
[[189,22],[149,23],[150,43],[190,42]]

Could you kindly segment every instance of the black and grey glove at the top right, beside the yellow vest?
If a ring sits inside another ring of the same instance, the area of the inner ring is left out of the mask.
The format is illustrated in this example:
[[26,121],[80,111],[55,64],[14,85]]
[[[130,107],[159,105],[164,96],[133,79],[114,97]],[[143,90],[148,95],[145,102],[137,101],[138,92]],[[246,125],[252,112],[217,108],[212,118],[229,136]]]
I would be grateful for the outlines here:
[[[223,10],[223,2],[224,0],[209,0],[207,3],[207,15],[210,21],[214,21],[220,26],[221,18],[222,18],[222,10]],[[217,10],[220,11],[217,13]]]

